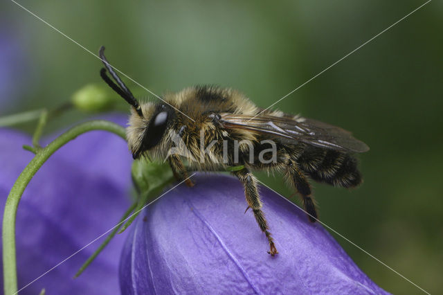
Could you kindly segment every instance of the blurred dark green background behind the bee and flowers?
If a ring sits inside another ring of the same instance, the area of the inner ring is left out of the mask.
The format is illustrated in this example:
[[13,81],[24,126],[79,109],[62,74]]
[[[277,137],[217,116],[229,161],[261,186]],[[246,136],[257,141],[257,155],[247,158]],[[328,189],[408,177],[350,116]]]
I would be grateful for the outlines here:
[[[19,1],[93,53],[107,46],[111,63],[154,93],[219,84],[260,107],[424,2]],[[443,293],[442,12],[442,2],[431,1],[275,106],[352,130],[368,143],[370,152],[360,156],[363,186],[314,184],[321,220],[435,294]],[[12,1],[0,4],[0,32],[0,67],[10,66],[1,74],[0,116],[54,108],[86,84],[104,84],[96,57]],[[119,107],[127,112],[123,100]],[[46,133],[90,116],[70,111]],[[260,179],[293,193],[279,176]],[[384,289],[422,293],[336,239]]]

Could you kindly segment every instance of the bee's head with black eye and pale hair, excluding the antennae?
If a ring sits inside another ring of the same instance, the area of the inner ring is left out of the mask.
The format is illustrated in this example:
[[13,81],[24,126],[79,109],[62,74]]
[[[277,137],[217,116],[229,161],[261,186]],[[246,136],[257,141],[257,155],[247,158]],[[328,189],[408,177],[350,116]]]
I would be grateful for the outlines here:
[[128,146],[134,159],[161,143],[175,116],[174,109],[165,103],[147,102],[141,109],[143,116],[132,110],[127,127]]

